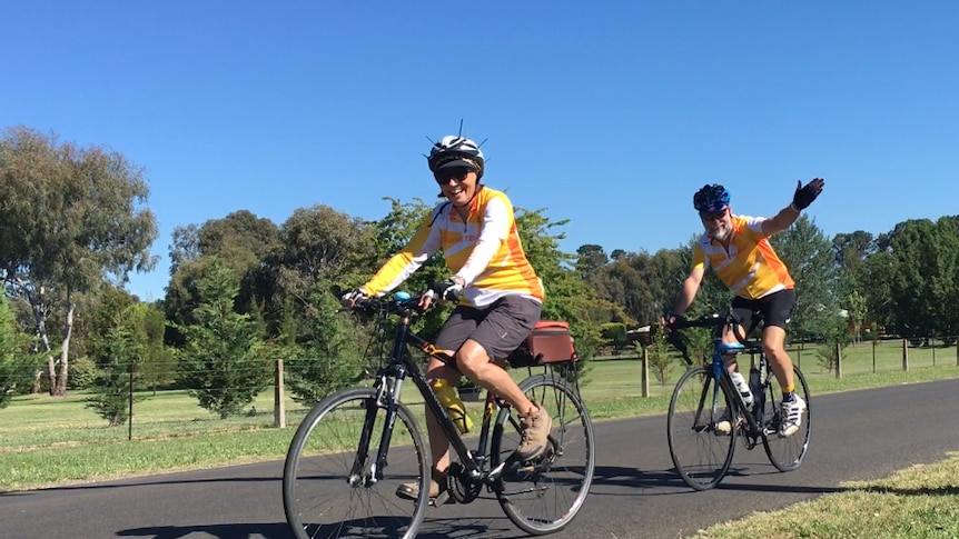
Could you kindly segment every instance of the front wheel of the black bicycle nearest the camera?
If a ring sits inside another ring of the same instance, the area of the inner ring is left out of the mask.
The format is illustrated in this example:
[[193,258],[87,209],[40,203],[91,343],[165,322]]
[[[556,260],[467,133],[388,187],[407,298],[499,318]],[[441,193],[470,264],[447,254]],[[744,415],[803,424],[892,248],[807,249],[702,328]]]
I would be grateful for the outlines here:
[[[289,446],[283,472],[283,506],[299,539],[412,539],[428,505],[429,452],[413,413],[397,403],[392,437],[386,408],[373,388],[327,397],[307,413]],[[360,440],[364,440],[364,443]],[[368,442],[366,441],[368,440]],[[389,455],[376,468],[380,443]],[[363,446],[367,451],[363,451]],[[419,499],[397,498],[403,483]]]

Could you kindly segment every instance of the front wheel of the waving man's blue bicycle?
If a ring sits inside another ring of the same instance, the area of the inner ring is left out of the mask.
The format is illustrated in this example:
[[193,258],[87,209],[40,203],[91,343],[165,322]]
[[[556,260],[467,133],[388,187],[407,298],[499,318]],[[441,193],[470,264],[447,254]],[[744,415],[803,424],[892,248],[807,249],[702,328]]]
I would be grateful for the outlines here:
[[686,371],[673,389],[666,418],[670,457],[683,481],[695,490],[719,485],[732,463],[739,429],[728,435],[715,430],[723,407],[732,410],[731,402],[705,367]]

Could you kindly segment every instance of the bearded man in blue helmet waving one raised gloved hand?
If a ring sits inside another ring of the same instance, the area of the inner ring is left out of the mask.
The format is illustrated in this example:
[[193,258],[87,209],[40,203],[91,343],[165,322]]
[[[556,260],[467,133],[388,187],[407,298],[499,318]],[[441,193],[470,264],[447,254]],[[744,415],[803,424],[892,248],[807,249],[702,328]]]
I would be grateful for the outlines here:
[[[799,218],[822,192],[825,182],[815,178],[805,186],[797,182],[792,202],[775,217],[736,216],[730,206],[730,193],[721,184],[703,186],[693,196],[693,207],[700,214],[705,233],[700,237],[693,250],[693,263],[689,277],[676,298],[669,320],[663,320],[666,331],[676,319],[683,316],[695,299],[708,267],[713,268],[720,280],[735,295],[732,300],[732,315],[745,328],[747,333],[763,320],[762,349],[769,358],[772,371],[782,388],[782,418],[779,435],[794,435],[802,422],[805,401],[795,395],[792,360],[783,346],[785,323],[795,307],[795,283],[789,270],[779,259],[769,237],[784,230]],[[759,318],[753,319],[758,313]],[[723,342],[739,342],[732,331],[726,330]],[[726,358],[733,381],[740,391],[748,391],[742,375],[736,372],[735,357]],[[726,410],[726,415],[729,411]],[[731,418],[723,417],[716,423],[716,431],[729,433],[733,426]]]

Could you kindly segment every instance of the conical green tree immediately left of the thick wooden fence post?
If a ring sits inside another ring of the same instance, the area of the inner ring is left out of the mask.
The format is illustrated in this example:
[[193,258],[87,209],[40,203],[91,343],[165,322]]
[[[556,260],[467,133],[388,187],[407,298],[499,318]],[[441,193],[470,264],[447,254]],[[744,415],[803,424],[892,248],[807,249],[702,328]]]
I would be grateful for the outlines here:
[[180,381],[200,406],[221,419],[238,415],[270,382],[270,363],[259,353],[260,338],[249,315],[234,310],[239,287],[233,272],[211,263],[197,282],[196,325],[180,326]]

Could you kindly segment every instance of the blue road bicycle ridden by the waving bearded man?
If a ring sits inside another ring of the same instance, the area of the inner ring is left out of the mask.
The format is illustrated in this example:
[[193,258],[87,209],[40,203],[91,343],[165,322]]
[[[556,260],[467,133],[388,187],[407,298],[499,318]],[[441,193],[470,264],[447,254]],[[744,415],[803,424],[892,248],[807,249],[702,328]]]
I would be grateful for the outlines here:
[[[809,450],[810,398],[809,386],[799,368],[793,366],[797,393],[805,400],[805,412],[799,431],[781,437],[779,426],[782,412],[775,399],[772,367],[762,351],[762,345],[747,340],[740,335],[741,326],[732,315],[705,316],[691,320],[678,320],[675,329],[711,328],[714,330],[712,360],[698,365],[680,377],[670,400],[666,419],[670,457],[683,481],[695,490],[706,490],[722,481],[732,463],[736,438],[741,437],[747,449],[760,442],[769,461],[780,471],[792,471],[802,463]],[[723,329],[734,330],[740,342],[726,345],[722,341]],[[671,333],[671,341],[692,366],[685,346]],[[750,368],[749,385],[753,402],[747,406],[725,367],[723,356],[748,352],[758,357]],[[735,418],[735,419],[733,419]],[[716,423],[733,421],[729,432],[716,430]]]

